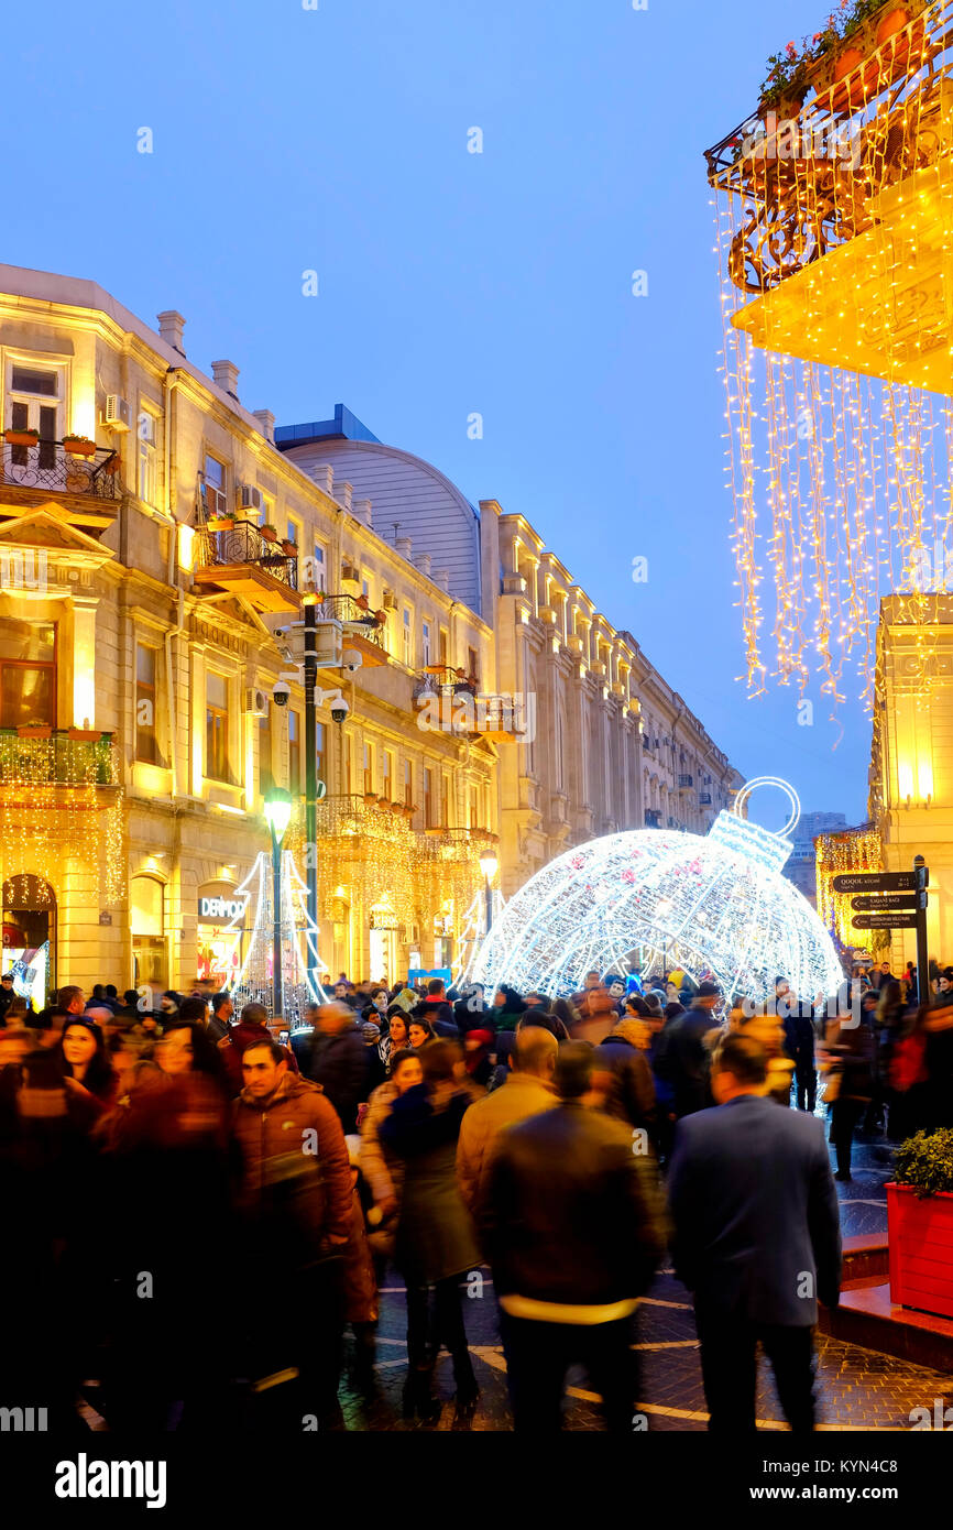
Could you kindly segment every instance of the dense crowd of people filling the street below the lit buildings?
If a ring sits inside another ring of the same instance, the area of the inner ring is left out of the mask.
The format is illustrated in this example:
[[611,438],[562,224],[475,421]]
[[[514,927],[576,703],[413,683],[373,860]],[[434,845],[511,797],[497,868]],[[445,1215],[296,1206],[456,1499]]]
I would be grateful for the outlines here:
[[753,1005],[682,972],[592,972],[564,999],[341,975],[283,1042],[228,993],[144,1010],[66,987],[32,1014],[5,978],[0,1174],[43,1327],[12,1325],[6,1391],[67,1429],[81,1400],[109,1427],[343,1427],[347,1353],[376,1389],[393,1265],[407,1418],[441,1417],[445,1348],[471,1423],[465,1290],[486,1278],[514,1427],[558,1429],[583,1365],[630,1432],[636,1307],[668,1250],[710,1427],[754,1427],[760,1342],[809,1429],[817,1300],[840,1285],[818,1073],[841,1180],[858,1126],[950,1125],[953,968],[930,1004],[912,982],[855,968],[805,1004],[779,978]]

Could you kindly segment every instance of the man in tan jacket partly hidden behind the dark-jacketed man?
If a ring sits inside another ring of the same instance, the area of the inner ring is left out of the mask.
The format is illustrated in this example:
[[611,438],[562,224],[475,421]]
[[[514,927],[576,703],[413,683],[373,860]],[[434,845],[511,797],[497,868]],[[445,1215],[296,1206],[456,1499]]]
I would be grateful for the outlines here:
[[509,1053],[511,1073],[499,1089],[471,1105],[457,1138],[457,1184],[473,1216],[479,1207],[500,1132],[557,1103],[552,1073],[558,1042],[542,1025],[522,1025]]

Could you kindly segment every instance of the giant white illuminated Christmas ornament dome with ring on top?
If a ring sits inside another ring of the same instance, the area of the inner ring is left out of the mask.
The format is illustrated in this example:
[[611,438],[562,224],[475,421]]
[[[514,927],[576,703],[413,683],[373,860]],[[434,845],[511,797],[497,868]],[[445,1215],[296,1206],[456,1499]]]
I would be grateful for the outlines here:
[[[791,815],[780,834],[742,817],[756,786],[780,786]],[[707,835],[633,829],[566,851],[503,909],[470,976],[568,994],[587,972],[684,968],[725,996],[763,999],[783,976],[805,999],[837,993],[843,972],[831,936],[783,875],[800,817],[794,789],[772,776],[748,782]]]

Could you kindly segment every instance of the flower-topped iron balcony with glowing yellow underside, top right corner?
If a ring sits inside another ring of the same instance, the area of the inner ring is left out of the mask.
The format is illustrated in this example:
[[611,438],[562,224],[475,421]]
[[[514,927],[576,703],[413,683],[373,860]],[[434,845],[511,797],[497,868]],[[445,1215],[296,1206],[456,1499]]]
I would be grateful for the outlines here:
[[[831,21],[772,60],[756,110],[705,151],[728,315],[771,352],[945,393],[953,0],[855,0]],[[913,263],[907,300],[896,268]]]

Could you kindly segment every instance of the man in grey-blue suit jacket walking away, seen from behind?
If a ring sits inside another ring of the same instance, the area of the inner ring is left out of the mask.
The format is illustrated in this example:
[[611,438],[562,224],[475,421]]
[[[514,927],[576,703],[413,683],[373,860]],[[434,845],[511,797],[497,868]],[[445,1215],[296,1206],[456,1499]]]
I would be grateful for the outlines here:
[[814,1429],[817,1300],[840,1300],[840,1215],[823,1123],[763,1095],[768,1059],[730,1033],[717,1105],[679,1121],[668,1172],[675,1271],[694,1296],[708,1429],[753,1434],[757,1345],[782,1411]]

